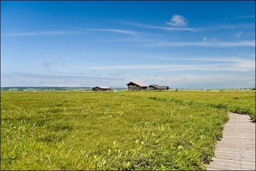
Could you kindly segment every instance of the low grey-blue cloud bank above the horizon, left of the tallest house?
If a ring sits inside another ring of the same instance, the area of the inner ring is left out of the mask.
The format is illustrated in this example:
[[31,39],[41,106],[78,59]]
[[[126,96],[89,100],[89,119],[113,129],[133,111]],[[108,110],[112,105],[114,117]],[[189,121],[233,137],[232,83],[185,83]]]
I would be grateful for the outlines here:
[[81,76],[81,75],[44,75],[15,72],[1,74],[1,87],[11,86],[48,86],[48,87],[94,87],[111,86],[110,83],[123,84],[124,78]]

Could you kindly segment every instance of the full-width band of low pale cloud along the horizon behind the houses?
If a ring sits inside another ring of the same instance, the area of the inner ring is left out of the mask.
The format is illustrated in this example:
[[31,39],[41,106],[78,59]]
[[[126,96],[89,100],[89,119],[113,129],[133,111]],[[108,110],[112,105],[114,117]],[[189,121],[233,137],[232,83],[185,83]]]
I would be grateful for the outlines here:
[[[227,74],[193,72],[172,74],[166,72],[156,76],[147,77],[144,74],[131,75],[125,78],[68,76],[68,75],[40,75],[29,73],[1,73],[1,87],[6,86],[53,86],[53,87],[127,87],[125,84],[131,80],[143,81],[146,84],[168,85],[170,88],[239,88],[255,86],[255,70],[249,72],[231,72]],[[123,75],[122,75],[123,76]]]

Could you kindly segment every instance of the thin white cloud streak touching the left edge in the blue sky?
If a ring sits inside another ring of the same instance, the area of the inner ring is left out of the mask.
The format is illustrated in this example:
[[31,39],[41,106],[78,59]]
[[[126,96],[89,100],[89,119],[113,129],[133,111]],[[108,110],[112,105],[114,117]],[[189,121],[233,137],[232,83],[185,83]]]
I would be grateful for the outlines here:
[[41,32],[23,32],[23,33],[9,33],[3,34],[1,37],[15,37],[15,36],[40,36],[40,35],[80,35],[84,32],[77,31],[41,31]]

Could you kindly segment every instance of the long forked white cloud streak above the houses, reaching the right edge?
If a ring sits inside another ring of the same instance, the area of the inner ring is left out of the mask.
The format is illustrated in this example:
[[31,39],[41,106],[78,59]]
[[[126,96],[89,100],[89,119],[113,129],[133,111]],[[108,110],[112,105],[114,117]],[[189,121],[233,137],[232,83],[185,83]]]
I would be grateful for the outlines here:
[[[95,70],[157,70],[157,71],[250,71],[255,70],[255,59],[227,58],[227,57],[201,57],[201,58],[161,58],[151,57],[159,60],[169,61],[195,61],[189,64],[144,64],[144,65],[123,65],[123,66],[97,66],[87,69]],[[200,62],[200,63],[198,63]],[[212,63],[214,62],[214,63]]]

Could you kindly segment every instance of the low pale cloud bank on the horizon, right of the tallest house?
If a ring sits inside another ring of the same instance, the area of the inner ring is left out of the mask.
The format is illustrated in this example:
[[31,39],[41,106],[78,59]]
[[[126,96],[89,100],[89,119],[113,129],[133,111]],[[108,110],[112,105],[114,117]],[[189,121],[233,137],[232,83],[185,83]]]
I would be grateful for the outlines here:
[[145,80],[145,83],[158,83],[169,85],[170,88],[240,88],[248,87],[248,84],[255,85],[255,70],[250,72],[240,72],[239,74],[175,74],[157,75],[156,77],[146,77],[140,75],[137,80]]

